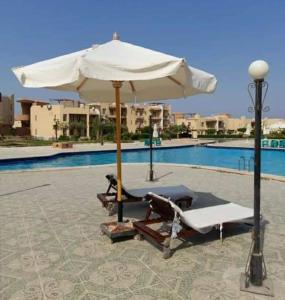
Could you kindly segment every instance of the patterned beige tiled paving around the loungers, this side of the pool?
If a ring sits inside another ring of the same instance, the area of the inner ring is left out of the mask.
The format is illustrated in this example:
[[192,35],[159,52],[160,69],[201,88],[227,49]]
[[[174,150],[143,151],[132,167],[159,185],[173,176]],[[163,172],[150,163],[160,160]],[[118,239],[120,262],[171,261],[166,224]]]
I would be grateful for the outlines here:
[[[152,185],[185,184],[201,198],[252,206],[252,177],[160,165]],[[201,236],[164,260],[146,241],[111,244],[99,224],[112,219],[96,193],[112,166],[0,175],[0,299],[267,299],[239,291],[250,233],[221,244]],[[124,167],[130,187],[148,186],[146,165]],[[262,181],[269,224],[265,258],[275,299],[285,299],[285,184]],[[127,218],[145,206],[126,207]]]

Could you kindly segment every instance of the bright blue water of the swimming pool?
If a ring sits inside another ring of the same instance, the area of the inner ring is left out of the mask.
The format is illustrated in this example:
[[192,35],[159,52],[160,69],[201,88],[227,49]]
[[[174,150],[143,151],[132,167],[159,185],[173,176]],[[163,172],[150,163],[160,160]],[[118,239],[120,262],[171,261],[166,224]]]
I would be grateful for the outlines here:
[[[154,162],[162,163],[207,165],[238,169],[238,161],[241,156],[244,156],[248,161],[253,157],[253,150],[218,147],[156,148],[154,149],[153,160]],[[285,176],[285,151],[262,150],[261,157],[263,173]],[[122,159],[125,163],[149,162],[149,151],[144,149],[123,151]],[[115,151],[67,153],[46,158],[0,161],[0,170],[103,165],[115,162]],[[253,161],[251,161],[251,170],[252,168]]]

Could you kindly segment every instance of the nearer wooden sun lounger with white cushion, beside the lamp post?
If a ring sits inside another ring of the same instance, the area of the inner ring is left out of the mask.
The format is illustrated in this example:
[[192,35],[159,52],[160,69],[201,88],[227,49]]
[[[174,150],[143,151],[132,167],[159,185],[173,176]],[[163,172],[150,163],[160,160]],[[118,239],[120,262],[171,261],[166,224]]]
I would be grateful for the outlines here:
[[[145,220],[134,222],[133,225],[139,236],[145,237],[163,251],[164,258],[171,255],[171,238],[185,240],[195,234],[206,234],[218,229],[222,240],[225,226],[233,223],[253,223],[253,209],[231,202],[183,211],[170,199],[154,193],[149,193],[147,198],[151,212],[147,213]],[[160,217],[151,219],[152,212]],[[170,226],[165,226],[165,230],[155,230],[151,226],[167,221],[170,221]]]

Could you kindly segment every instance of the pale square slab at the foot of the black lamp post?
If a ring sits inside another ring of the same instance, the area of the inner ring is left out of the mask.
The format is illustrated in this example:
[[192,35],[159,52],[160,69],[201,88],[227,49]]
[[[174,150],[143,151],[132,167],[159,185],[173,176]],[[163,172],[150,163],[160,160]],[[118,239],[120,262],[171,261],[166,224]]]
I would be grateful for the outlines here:
[[273,283],[270,279],[263,279],[262,285],[253,285],[245,273],[241,273],[240,276],[240,290],[243,292],[249,292],[253,294],[265,295],[273,297]]

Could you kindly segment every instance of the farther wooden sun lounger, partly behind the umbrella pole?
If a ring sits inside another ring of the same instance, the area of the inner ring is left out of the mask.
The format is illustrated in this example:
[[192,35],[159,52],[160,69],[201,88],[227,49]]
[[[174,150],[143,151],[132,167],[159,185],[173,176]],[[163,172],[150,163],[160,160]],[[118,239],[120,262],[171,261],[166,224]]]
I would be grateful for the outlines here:
[[[106,175],[106,178],[109,181],[107,191],[97,194],[97,197],[103,207],[107,208],[109,213],[112,214],[117,202],[117,178],[113,174]],[[141,189],[126,189],[122,186],[122,200],[124,203],[144,201],[147,200],[146,196],[149,192],[170,198],[171,201],[174,201],[180,207],[189,208],[192,202],[197,198],[195,193],[184,185],[146,187]]]

